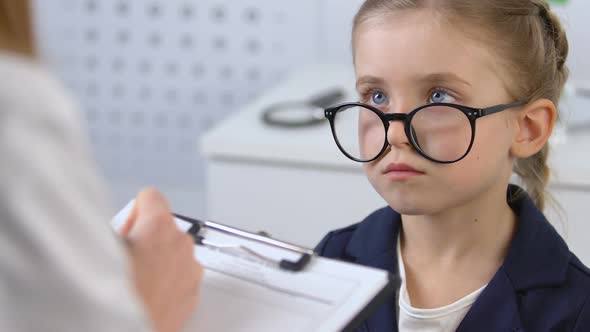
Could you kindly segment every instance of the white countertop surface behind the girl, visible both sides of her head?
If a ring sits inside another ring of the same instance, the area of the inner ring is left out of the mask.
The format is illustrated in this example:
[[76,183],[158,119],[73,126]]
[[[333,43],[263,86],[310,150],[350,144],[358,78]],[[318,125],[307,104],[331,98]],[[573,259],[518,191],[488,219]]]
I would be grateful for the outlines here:
[[[200,141],[201,151],[211,159],[361,172],[360,164],[348,160],[337,149],[327,121],[295,129],[271,127],[261,120],[268,105],[307,100],[334,87],[344,89],[347,100],[356,100],[354,82],[351,64],[303,68],[206,133]],[[590,131],[567,134],[565,142],[553,144],[550,166],[553,185],[590,188]]]

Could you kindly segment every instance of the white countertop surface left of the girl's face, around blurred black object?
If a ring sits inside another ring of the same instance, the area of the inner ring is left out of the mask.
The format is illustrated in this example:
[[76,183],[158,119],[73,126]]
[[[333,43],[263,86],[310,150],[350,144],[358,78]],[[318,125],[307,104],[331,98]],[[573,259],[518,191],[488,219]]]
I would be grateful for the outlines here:
[[308,128],[268,126],[261,120],[265,107],[275,102],[307,100],[318,92],[344,88],[356,99],[351,65],[322,65],[301,70],[270,89],[243,110],[232,114],[201,139],[208,158],[248,159],[264,162],[314,165],[361,170],[341,155],[334,144],[330,125]]

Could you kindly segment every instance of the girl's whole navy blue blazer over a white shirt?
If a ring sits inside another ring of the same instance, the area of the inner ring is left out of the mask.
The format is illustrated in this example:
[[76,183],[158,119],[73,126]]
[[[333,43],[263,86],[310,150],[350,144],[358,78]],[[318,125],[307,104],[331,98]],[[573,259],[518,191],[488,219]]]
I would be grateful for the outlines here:
[[[516,189],[510,186],[509,197]],[[590,270],[526,194],[510,206],[518,224],[508,254],[457,331],[590,332]],[[386,207],[328,233],[316,250],[321,256],[396,273],[400,225],[400,215]],[[398,331],[395,311],[391,296],[359,331]]]

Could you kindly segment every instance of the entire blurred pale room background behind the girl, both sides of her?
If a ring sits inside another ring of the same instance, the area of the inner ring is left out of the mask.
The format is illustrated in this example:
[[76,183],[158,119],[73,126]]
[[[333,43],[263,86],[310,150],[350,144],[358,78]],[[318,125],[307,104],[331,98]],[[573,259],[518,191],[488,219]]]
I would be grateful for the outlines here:
[[[156,185],[177,212],[312,246],[384,205],[327,124],[260,121],[269,104],[334,87],[355,98],[349,43],[362,0],[33,3],[42,60],[80,102],[115,209]],[[554,158],[565,210],[556,224],[588,264],[590,160],[580,149],[590,147],[590,1],[554,9],[571,44],[563,119],[576,128],[554,137],[570,147]]]

